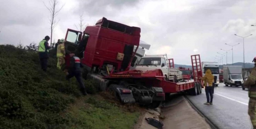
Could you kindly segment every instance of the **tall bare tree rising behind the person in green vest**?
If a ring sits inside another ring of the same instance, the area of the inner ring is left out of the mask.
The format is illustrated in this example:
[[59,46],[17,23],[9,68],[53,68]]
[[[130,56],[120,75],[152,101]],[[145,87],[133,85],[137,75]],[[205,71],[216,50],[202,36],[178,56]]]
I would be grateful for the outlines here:
[[[44,3],[44,2],[43,2]],[[47,7],[44,3],[44,6],[50,11],[50,17],[49,17],[49,23],[51,25],[51,43],[50,46],[52,46],[52,33],[56,25],[58,24],[59,20],[56,21],[55,17],[58,15],[59,11],[64,7],[65,4],[63,4],[59,9],[57,9],[59,1],[58,0],[49,0],[50,7]]]

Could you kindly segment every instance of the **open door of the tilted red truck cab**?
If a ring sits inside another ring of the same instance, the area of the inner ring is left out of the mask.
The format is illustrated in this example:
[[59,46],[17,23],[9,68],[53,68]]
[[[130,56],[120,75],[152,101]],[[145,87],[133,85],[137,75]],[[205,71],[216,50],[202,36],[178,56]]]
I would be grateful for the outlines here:
[[68,29],[65,36],[65,51],[66,53],[75,52],[82,38],[82,32]]

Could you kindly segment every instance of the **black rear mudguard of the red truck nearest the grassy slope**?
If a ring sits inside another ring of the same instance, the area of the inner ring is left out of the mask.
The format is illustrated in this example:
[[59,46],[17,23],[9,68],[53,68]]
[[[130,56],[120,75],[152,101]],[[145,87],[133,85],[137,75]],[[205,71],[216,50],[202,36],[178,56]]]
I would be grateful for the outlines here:
[[135,103],[132,90],[128,88],[116,88],[116,93],[119,95],[121,103]]

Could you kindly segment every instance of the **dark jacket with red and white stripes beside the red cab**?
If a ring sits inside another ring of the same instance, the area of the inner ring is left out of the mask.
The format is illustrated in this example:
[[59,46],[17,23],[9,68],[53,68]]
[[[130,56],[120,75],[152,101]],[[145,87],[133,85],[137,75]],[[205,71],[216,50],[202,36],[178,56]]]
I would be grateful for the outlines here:
[[81,67],[83,67],[83,65],[81,64],[80,58],[73,56],[70,58],[70,68],[68,73],[81,72]]

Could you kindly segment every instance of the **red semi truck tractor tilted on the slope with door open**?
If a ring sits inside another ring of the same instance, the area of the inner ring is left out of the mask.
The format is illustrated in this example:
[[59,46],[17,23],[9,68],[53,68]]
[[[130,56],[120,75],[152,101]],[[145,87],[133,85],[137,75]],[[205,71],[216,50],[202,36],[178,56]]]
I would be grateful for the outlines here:
[[105,17],[98,20],[95,26],[87,26],[83,32],[68,29],[65,36],[66,67],[70,65],[69,53],[74,52],[84,66],[84,79],[92,80],[101,91],[110,91],[123,104],[139,103],[148,108],[156,108],[165,100],[161,82],[155,77],[162,75],[161,70],[152,71],[151,74],[155,76],[150,77],[137,77],[134,72],[117,74],[129,71],[135,65],[140,33],[138,27],[117,23]]

